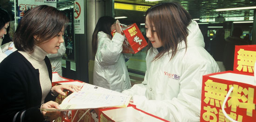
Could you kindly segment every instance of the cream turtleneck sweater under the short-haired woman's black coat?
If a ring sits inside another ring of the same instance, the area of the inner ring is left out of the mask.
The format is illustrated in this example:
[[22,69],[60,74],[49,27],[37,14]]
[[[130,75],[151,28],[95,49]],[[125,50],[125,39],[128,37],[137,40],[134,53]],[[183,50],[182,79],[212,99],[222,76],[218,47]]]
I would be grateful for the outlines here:
[[52,89],[52,83],[49,78],[47,65],[45,64],[45,56],[48,54],[40,47],[35,46],[33,53],[28,53],[25,51],[19,51],[32,65],[35,69],[39,70],[39,79],[42,89],[42,100],[41,104],[44,103],[45,97]]

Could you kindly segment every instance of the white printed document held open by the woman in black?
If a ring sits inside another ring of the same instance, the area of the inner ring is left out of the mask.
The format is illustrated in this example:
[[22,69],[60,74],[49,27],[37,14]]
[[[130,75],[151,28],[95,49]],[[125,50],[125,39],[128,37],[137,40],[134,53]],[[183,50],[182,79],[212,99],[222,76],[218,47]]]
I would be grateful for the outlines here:
[[42,109],[45,111],[67,111],[75,109],[94,109],[104,107],[127,107],[131,96],[108,90],[92,84],[83,83],[81,91],[73,92],[60,104],[61,109]]

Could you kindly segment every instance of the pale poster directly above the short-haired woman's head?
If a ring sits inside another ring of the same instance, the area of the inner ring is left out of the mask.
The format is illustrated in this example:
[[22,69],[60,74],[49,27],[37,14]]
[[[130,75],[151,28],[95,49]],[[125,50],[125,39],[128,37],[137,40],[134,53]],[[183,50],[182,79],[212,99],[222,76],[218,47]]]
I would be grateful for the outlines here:
[[[57,0],[18,0],[18,17],[23,17],[24,12],[38,5],[57,7]],[[20,21],[18,19],[18,21]]]

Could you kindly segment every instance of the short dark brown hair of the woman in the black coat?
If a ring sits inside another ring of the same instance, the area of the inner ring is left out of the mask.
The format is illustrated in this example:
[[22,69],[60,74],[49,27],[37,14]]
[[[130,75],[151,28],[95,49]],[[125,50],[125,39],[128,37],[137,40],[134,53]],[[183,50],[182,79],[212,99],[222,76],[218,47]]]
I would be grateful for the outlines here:
[[[28,10],[17,27],[13,43],[19,51],[34,51],[34,46],[54,38],[68,25],[67,16],[53,6],[40,5]],[[34,39],[34,36],[37,36]],[[39,41],[37,41],[39,40]]]

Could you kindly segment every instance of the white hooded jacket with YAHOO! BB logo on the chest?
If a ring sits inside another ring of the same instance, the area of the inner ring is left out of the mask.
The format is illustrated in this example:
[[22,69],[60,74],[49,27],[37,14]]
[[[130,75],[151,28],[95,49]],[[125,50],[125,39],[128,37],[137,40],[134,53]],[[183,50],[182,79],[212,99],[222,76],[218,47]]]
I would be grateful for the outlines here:
[[171,60],[170,51],[155,61],[157,49],[148,50],[144,81],[122,92],[132,95],[138,109],[171,122],[200,121],[202,76],[220,71],[204,49],[197,23],[192,21],[187,28],[187,50],[182,41]]

